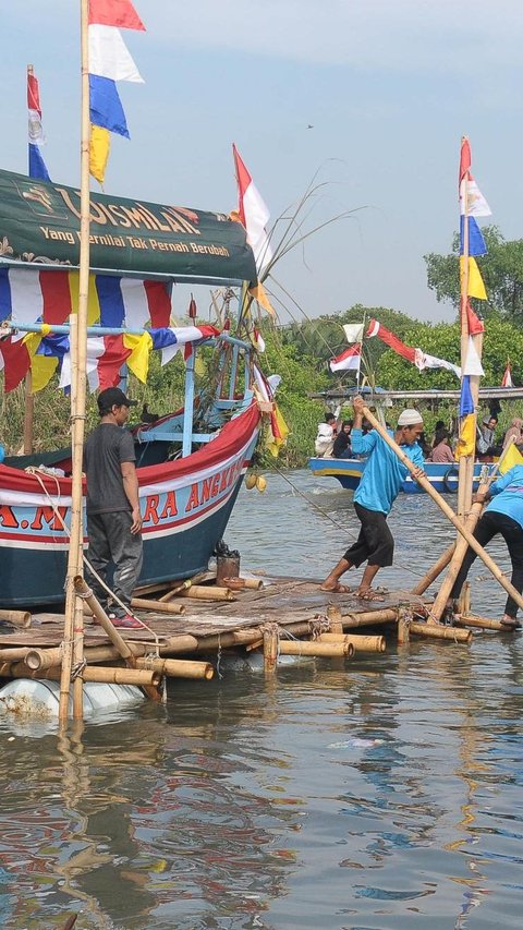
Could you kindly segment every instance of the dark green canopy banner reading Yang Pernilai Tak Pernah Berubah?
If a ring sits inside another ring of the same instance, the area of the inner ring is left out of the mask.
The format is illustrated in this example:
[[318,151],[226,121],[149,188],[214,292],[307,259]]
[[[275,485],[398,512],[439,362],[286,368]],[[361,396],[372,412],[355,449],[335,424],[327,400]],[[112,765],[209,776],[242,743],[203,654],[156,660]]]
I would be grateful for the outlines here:
[[[80,191],[0,171],[0,264],[80,264]],[[240,222],[224,214],[90,196],[90,268],[191,282],[256,282]]]

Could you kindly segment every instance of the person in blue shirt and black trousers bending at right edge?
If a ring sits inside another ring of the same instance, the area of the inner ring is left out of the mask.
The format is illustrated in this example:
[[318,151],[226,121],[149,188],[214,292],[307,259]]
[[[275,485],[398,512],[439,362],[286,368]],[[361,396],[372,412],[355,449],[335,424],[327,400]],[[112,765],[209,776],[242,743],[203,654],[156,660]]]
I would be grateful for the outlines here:
[[[472,499],[475,504],[489,502],[483,517],[478,520],[474,538],[482,546],[486,546],[498,533],[503,538],[512,563],[510,580],[521,594],[523,591],[523,466],[514,466],[502,478],[498,478],[485,494],[475,494]],[[451,600],[460,596],[475,558],[476,553],[469,547],[454,581]],[[509,595],[501,623],[508,627],[520,626],[516,616],[518,604]]]

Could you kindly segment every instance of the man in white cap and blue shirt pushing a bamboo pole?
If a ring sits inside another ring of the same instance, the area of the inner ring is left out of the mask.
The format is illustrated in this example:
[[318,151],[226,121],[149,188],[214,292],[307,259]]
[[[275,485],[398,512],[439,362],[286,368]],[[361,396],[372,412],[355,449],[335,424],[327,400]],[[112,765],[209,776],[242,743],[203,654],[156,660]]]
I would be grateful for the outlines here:
[[[372,589],[376,572],[387,565],[392,565],[394,540],[387,526],[387,517],[409,472],[376,430],[367,435],[363,434],[364,406],[362,397],[354,398],[354,426],[351,433],[352,451],[355,455],[368,456],[362,479],[354,492],[354,509],[362,528],[356,542],[325,579],[321,590],[338,594],[349,593],[351,589],[340,583],[341,576],[349,568],[357,568],[366,561],[356,596],[373,601],[379,599]],[[416,466],[414,478],[422,475],[424,459],[417,445],[417,438],[423,432],[422,414],[417,410],[403,410],[398,418],[396,432],[388,432]]]

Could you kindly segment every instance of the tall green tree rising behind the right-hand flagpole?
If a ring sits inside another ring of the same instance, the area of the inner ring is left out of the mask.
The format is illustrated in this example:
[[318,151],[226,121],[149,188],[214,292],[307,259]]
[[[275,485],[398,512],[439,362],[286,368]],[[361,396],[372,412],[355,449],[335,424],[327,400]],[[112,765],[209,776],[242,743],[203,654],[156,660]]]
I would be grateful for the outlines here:
[[[523,239],[507,241],[498,227],[483,229],[488,254],[477,259],[488,301],[472,301],[483,316],[501,316],[523,328]],[[455,234],[449,255],[425,255],[428,287],[438,301],[460,305],[460,240]]]

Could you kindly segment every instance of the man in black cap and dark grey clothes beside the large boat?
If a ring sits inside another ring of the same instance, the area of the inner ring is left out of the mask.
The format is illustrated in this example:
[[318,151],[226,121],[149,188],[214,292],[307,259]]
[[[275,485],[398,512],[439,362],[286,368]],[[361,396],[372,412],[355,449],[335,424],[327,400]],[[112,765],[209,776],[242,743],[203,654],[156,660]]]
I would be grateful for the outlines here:
[[[106,581],[107,568],[114,565],[112,590],[119,604],[109,616],[115,627],[142,628],[131,614],[131,599],[143,561],[142,516],[138,500],[136,456],[131,433],[123,430],[135,400],[119,387],[98,395],[100,423],[87,437],[84,471],[87,479],[87,535],[89,566]],[[90,572],[88,582],[104,609],[108,592]]]

